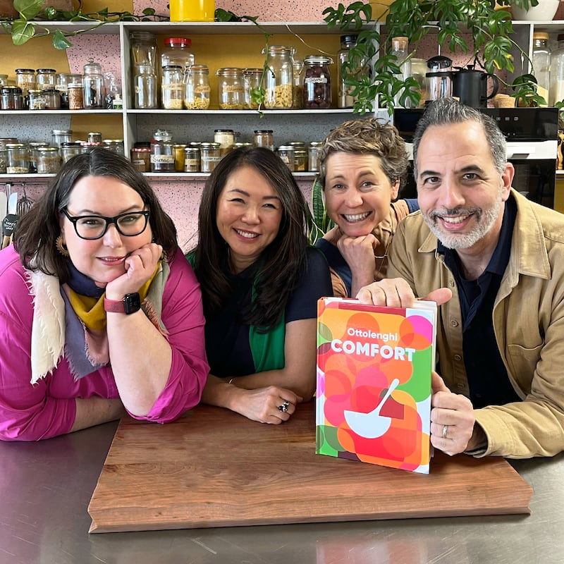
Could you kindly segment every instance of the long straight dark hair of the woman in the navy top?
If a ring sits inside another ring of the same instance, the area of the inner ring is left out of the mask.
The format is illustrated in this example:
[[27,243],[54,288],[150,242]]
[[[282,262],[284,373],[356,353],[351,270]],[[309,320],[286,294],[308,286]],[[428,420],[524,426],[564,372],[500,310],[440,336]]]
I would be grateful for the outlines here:
[[214,317],[229,301],[229,247],[217,228],[219,195],[229,176],[245,166],[255,168],[276,191],[282,219],[276,238],[266,247],[255,266],[255,299],[240,321],[267,331],[276,325],[286,303],[305,274],[305,209],[307,204],[286,164],[270,149],[240,147],[226,154],[209,176],[198,214],[199,240],[195,267],[202,287],[204,313]]

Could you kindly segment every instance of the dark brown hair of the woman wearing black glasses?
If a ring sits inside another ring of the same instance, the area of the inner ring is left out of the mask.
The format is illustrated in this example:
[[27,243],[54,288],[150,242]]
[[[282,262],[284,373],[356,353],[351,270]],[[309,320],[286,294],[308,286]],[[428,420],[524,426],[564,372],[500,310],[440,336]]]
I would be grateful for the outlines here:
[[125,157],[96,147],[92,152],[76,155],[63,164],[47,191],[18,221],[14,247],[27,269],[55,274],[61,282],[68,280],[67,259],[56,250],[55,245],[61,234],[59,215],[67,207],[75,184],[86,176],[111,176],[133,188],[151,212],[149,224],[154,240],[163,246],[169,257],[173,257],[178,248],[176,227],[159,204],[147,178]]

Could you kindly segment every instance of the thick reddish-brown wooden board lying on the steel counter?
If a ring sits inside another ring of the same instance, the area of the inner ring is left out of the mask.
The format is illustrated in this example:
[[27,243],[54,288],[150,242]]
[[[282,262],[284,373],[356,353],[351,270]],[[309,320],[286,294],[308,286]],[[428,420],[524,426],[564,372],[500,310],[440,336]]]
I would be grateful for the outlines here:
[[123,419],[90,532],[530,513],[503,458],[435,453],[430,474],[315,454],[314,403],[281,425],[200,405],[165,425]]

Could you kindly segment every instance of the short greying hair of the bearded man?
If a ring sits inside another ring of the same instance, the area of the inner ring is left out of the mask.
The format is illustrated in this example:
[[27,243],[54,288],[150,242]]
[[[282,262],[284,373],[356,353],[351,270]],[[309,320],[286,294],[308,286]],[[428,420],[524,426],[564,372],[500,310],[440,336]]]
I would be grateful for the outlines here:
[[460,104],[458,100],[453,98],[439,98],[427,106],[415,128],[413,135],[413,173],[415,180],[417,180],[419,143],[427,128],[431,127],[431,125],[450,125],[451,123],[464,123],[465,121],[475,121],[482,125],[496,171],[501,174],[505,170],[505,165],[507,164],[507,142],[494,119],[477,109]]

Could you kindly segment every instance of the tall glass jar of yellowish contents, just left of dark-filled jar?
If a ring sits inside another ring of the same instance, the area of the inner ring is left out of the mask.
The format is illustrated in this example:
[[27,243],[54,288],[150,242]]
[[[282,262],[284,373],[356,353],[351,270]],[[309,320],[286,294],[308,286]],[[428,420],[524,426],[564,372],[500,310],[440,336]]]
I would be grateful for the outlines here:
[[[264,49],[262,54],[265,54]],[[265,108],[290,109],[292,107],[293,49],[283,46],[269,47],[266,64]]]

